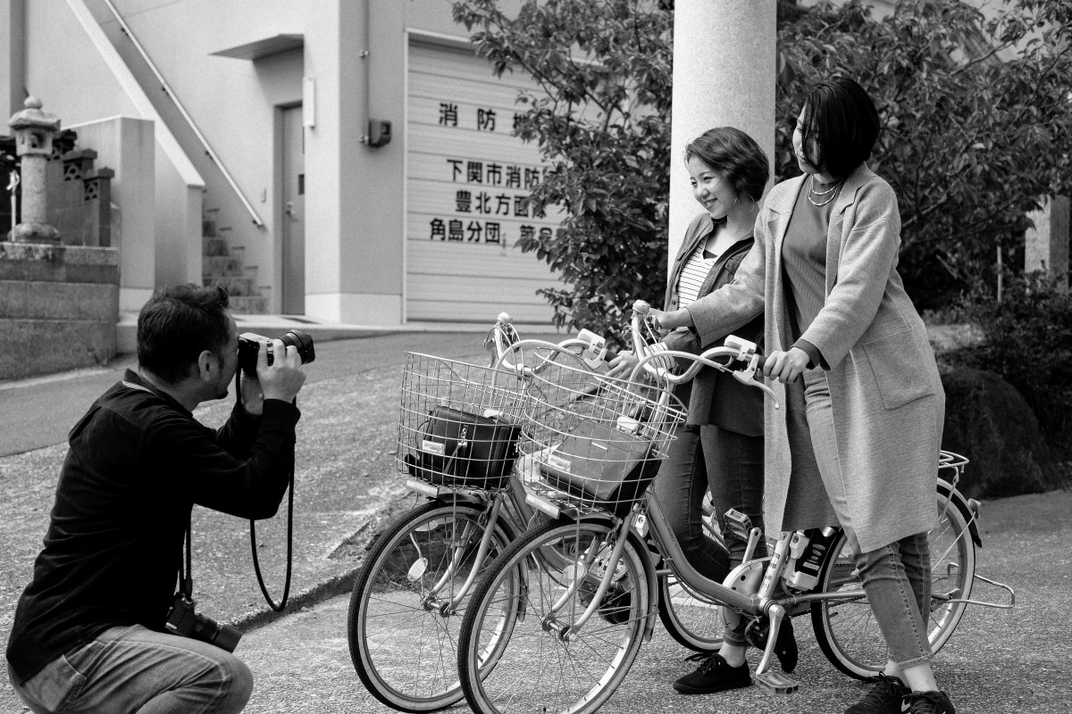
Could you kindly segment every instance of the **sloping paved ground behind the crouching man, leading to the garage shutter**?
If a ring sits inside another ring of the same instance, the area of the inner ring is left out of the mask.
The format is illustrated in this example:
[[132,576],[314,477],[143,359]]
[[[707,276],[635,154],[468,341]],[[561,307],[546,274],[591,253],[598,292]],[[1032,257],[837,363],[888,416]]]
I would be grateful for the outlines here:
[[[308,365],[309,379],[298,396],[302,417],[297,429],[294,575],[287,611],[348,590],[376,519],[392,505],[407,503],[394,464],[405,352],[486,364],[482,339],[475,333],[401,333],[317,343],[316,361]],[[4,495],[0,642],[4,645],[15,603],[30,580],[48,527],[68,429],[133,364],[132,359],[120,358],[106,367],[0,382],[0,492]],[[195,415],[209,425],[222,424],[233,404],[233,398],[207,404]],[[286,563],[285,505],[284,501],[276,518],[258,521],[256,529],[258,560],[277,601]],[[253,573],[249,521],[195,508],[193,527],[198,611],[242,627],[273,617]],[[5,679],[0,680],[0,713],[20,712]]]

